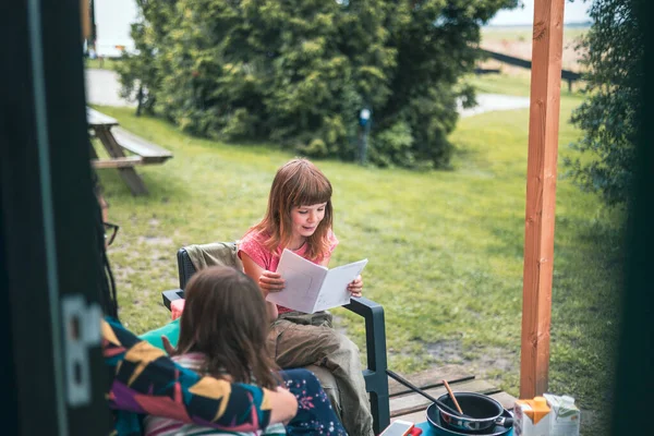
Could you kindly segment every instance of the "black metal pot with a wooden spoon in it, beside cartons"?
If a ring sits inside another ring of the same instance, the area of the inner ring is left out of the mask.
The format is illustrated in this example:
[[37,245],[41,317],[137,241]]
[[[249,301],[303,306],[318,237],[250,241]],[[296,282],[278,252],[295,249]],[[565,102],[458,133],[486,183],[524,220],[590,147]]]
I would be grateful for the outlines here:
[[[481,432],[495,425],[513,426],[513,420],[502,416],[504,408],[493,398],[476,392],[455,392],[455,397],[465,416],[452,414],[441,408],[438,402],[435,403],[440,413],[440,420],[446,426],[463,432]],[[438,397],[438,401],[448,407],[455,407],[448,393]]]

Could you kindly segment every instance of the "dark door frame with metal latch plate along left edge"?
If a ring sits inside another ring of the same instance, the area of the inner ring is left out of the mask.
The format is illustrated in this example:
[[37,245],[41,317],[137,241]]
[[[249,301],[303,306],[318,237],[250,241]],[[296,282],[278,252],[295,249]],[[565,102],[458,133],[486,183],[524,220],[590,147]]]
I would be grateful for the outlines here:
[[80,0],[0,8],[2,433],[107,434]]

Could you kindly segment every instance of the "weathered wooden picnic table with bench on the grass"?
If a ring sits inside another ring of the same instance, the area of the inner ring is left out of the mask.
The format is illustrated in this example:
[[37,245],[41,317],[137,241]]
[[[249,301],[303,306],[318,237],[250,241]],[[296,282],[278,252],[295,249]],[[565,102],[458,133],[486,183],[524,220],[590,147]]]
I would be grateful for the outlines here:
[[[132,194],[147,194],[147,189],[135,166],[164,164],[172,157],[172,153],[153,144],[119,126],[117,119],[86,108],[86,119],[92,135],[100,141],[109,158],[100,159],[92,147],[92,164],[94,168],[116,168],[120,177],[130,186]],[[131,155],[125,154],[130,152]]]

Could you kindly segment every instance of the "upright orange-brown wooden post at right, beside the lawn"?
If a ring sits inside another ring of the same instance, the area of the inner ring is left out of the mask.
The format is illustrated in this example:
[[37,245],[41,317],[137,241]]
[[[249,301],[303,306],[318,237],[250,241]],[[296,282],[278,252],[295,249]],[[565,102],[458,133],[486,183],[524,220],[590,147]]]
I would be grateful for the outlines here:
[[564,2],[534,4],[520,398],[547,390]]

